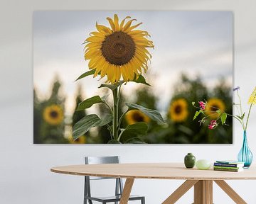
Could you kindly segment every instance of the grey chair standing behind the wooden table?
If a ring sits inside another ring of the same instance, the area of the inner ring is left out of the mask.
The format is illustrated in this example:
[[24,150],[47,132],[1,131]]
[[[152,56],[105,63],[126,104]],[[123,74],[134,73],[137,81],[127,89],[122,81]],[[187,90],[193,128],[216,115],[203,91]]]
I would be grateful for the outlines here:
[[[113,157],[85,157],[85,164],[119,164],[119,156]],[[123,183],[122,179],[116,179],[115,195],[108,197],[96,197],[91,195],[90,191],[90,180],[101,180],[101,179],[114,179],[107,177],[96,177],[96,176],[85,176],[85,191],[84,191],[84,204],[92,204],[93,201],[100,202],[102,204],[114,203],[117,204],[122,196]],[[144,196],[130,196],[129,200],[141,200],[142,204],[145,204]]]

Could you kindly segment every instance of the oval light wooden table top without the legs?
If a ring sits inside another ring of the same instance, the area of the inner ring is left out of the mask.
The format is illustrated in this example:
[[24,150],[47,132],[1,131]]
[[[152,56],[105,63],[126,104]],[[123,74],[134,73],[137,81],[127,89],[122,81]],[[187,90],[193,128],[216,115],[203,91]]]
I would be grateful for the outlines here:
[[251,166],[240,172],[213,171],[213,169],[186,169],[183,163],[135,163],[135,164],[83,164],[56,166],[50,171],[59,174],[100,176],[130,179],[178,179],[178,180],[239,180],[256,179],[256,168]]

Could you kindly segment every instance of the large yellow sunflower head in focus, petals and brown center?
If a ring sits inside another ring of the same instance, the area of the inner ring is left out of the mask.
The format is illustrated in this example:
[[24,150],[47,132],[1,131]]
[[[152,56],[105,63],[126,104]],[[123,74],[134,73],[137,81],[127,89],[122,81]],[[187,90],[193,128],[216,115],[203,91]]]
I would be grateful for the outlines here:
[[147,62],[151,55],[147,47],[154,47],[153,42],[148,40],[150,36],[144,30],[134,30],[142,23],[132,26],[131,19],[125,23],[127,16],[121,23],[117,14],[114,19],[107,17],[110,28],[96,23],[96,32],[90,33],[85,40],[85,60],[90,60],[89,69],[95,69],[94,77],[107,75],[107,83],[114,84],[122,79],[133,80],[142,69],[146,72]]

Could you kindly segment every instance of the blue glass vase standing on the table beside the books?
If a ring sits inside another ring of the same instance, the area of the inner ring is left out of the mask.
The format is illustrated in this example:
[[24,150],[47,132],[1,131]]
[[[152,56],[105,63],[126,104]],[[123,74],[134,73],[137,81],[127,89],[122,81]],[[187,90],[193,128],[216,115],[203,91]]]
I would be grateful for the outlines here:
[[243,142],[242,142],[242,148],[240,149],[240,152],[238,154],[238,161],[239,162],[245,162],[244,168],[249,168],[250,164],[252,164],[253,155],[250,151],[250,148],[247,144],[247,135],[246,131],[243,133]]

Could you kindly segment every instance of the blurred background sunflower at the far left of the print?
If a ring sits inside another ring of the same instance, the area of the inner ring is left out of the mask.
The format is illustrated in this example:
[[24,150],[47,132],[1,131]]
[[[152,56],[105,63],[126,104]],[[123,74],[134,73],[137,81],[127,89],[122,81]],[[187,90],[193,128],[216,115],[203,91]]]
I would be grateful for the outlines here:
[[60,125],[63,118],[63,109],[58,105],[47,106],[43,110],[43,119],[50,125]]

